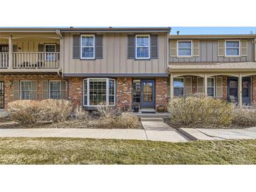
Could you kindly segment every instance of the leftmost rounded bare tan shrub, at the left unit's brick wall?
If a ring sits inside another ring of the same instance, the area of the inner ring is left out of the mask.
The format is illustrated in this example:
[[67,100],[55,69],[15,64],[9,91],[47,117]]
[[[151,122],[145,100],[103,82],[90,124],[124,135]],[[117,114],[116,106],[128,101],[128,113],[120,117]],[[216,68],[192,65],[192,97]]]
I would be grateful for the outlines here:
[[27,125],[36,123],[40,117],[40,110],[38,101],[20,100],[7,104],[7,111],[11,114],[11,119]]

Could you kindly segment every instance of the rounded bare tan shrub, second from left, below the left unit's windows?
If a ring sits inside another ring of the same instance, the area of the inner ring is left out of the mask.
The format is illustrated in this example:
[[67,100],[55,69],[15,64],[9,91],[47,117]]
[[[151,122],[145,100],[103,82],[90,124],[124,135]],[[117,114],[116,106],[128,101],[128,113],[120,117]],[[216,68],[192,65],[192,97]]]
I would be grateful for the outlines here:
[[72,111],[72,105],[67,100],[42,100],[40,106],[43,121],[65,121]]

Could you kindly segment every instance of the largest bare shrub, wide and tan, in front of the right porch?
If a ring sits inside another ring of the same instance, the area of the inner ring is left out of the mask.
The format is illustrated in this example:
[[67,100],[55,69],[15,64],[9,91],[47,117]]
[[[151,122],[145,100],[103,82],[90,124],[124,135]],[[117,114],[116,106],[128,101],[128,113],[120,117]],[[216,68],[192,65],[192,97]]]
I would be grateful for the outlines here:
[[226,126],[231,124],[233,105],[211,97],[177,97],[168,103],[170,122],[176,125]]

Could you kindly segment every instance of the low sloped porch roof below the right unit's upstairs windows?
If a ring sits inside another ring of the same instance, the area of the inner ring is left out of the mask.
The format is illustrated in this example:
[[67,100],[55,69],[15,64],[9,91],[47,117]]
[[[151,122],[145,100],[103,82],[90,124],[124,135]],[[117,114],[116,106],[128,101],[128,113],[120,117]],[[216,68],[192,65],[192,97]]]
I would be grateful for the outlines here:
[[169,62],[168,71],[255,72],[256,62]]

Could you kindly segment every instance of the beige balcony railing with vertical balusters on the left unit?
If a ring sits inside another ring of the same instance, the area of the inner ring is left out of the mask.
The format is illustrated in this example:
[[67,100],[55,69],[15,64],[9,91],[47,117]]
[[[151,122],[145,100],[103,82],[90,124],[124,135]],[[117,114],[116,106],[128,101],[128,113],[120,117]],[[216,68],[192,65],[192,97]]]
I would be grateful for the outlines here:
[[[12,53],[13,69],[53,69],[60,67],[60,53],[57,52],[15,52]],[[0,67],[8,68],[8,53],[0,53]]]

